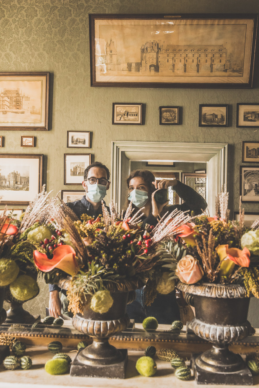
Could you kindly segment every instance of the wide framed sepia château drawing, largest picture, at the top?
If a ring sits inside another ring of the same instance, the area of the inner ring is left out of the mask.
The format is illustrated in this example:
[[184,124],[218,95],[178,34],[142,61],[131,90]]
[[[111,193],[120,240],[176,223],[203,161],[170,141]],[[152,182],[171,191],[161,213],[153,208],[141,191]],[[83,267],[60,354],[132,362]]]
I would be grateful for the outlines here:
[[256,14],[90,14],[91,86],[252,88]]

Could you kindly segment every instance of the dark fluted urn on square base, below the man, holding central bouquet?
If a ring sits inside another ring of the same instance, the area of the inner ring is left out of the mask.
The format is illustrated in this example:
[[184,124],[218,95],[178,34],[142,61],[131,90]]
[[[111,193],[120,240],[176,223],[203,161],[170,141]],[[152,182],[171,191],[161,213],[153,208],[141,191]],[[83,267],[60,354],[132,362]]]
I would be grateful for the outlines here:
[[[59,282],[59,287],[68,288],[68,282]],[[141,287],[137,281],[121,281],[106,284],[113,298],[108,312],[99,314],[86,305],[83,314],[76,314],[73,326],[81,333],[93,338],[93,343],[80,349],[72,362],[70,375],[85,377],[125,378],[128,355],[127,349],[116,349],[109,338],[129,326],[126,314],[128,303],[135,300],[135,289]]]

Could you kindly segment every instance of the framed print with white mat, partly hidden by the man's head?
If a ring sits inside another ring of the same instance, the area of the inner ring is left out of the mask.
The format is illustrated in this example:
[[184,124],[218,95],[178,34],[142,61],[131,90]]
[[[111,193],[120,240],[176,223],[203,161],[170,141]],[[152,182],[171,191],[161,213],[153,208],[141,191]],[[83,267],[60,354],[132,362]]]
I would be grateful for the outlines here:
[[80,185],[91,154],[64,154],[64,185]]

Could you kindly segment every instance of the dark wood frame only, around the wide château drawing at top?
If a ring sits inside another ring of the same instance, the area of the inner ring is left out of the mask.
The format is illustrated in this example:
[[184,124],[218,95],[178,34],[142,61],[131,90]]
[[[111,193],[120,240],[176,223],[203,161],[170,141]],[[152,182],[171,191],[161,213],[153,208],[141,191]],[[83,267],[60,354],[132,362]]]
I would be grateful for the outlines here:
[[[172,83],[172,82],[107,82],[96,81],[96,52],[95,52],[95,20],[111,19],[137,19],[137,20],[179,20],[179,19],[252,19],[253,30],[249,61],[248,81],[245,83]],[[255,48],[257,35],[257,14],[89,14],[89,40],[90,40],[90,83],[93,87],[152,87],[152,88],[252,88],[255,64]]]

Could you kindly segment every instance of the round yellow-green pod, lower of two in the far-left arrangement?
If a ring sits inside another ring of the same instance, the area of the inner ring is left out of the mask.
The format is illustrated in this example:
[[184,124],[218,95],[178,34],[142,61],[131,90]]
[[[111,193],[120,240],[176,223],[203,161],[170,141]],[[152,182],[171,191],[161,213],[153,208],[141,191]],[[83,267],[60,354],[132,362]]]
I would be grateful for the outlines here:
[[10,284],[10,292],[17,300],[24,301],[34,298],[38,294],[39,288],[31,276],[21,275]]

